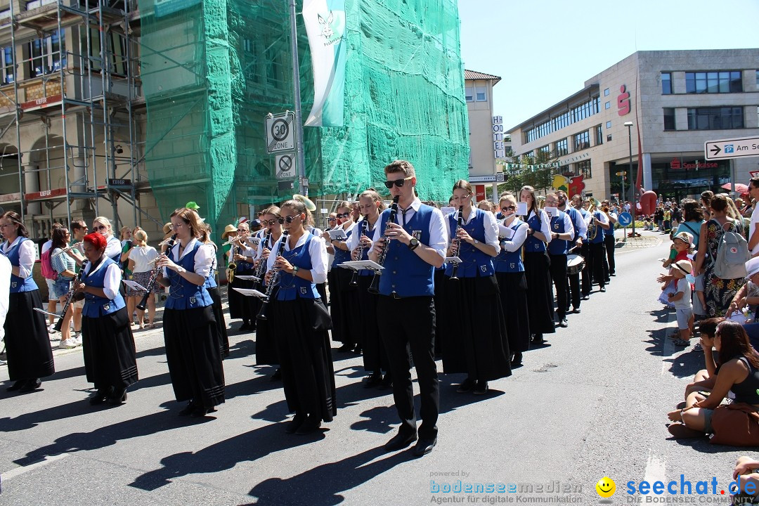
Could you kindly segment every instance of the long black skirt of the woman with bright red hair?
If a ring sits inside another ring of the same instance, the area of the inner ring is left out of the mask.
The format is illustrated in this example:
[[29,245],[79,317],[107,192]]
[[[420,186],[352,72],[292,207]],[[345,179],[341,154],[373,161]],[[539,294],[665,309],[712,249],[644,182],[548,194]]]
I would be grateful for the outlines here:
[[127,308],[98,318],[82,316],[84,372],[95,388],[137,382],[137,357]]

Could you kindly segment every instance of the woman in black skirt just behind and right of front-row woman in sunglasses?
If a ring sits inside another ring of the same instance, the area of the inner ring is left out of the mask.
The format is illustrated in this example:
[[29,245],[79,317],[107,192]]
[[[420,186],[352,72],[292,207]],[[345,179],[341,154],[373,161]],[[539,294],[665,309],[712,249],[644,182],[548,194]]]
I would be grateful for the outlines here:
[[[342,202],[337,208],[338,227],[345,231],[350,238],[355,223],[351,218],[351,206],[348,202]],[[338,351],[346,352],[361,348],[358,338],[361,336],[351,335],[351,271],[340,267],[342,262],[351,259],[351,252],[345,240],[331,240],[329,243],[334,249],[335,259],[332,261],[332,270],[329,271],[329,313],[332,314],[332,341],[341,341],[342,346]]]

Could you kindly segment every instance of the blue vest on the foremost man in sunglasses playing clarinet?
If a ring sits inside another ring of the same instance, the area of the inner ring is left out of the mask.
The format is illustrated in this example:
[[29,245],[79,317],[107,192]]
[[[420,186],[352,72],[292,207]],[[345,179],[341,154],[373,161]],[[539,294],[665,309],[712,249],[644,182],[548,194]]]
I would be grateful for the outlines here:
[[[409,218],[403,228],[412,236],[418,236],[421,244],[430,244],[430,220],[434,208],[422,204]],[[385,225],[390,215],[386,209],[379,217],[379,236],[385,234]],[[417,234],[414,234],[417,232]],[[385,269],[379,277],[379,293],[398,297],[432,297],[435,294],[435,269],[420,259],[417,253],[399,240],[391,240],[387,247]]]

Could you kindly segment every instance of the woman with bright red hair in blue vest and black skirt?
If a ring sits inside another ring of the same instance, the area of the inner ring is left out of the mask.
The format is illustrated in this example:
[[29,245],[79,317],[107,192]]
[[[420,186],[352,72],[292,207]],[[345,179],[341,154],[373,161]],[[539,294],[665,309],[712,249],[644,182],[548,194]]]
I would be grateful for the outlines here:
[[97,388],[90,404],[102,404],[107,399],[115,406],[127,400],[128,386],[137,382],[131,318],[118,291],[121,266],[106,256],[106,237],[87,234],[83,243],[87,266],[75,294],[84,297],[84,371],[87,381]]

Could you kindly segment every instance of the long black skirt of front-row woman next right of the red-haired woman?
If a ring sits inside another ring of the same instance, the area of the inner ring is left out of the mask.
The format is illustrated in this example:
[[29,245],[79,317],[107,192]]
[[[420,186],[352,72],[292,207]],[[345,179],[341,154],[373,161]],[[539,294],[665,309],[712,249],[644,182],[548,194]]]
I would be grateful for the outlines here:
[[224,366],[211,306],[164,310],[163,339],[177,401],[210,408],[224,402]]

